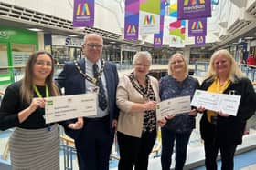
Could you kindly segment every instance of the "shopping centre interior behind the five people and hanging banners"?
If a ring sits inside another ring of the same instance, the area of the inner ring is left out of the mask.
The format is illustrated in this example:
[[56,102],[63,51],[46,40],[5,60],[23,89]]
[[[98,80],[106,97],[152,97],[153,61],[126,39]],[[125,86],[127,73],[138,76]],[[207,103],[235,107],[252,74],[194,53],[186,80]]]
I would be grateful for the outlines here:
[[[131,72],[136,52],[148,51],[153,57],[149,74],[159,79],[167,74],[168,58],[180,52],[187,57],[189,75],[201,82],[207,73],[210,56],[221,48],[229,50],[256,89],[256,66],[246,62],[250,55],[256,56],[256,0],[211,0],[204,45],[195,45],[195,38],[188,36],[187,28],[185,40],[175,45],[169,35],[168,22],[172,3],[173,0],[165,0],[163,45],[156,47],[154,34],[139,35],[136,40],[124,39],[125,0],[95,0],[93,27],[73,26],[73,0],[0,0],[0,102],[6,86],[23,77],[32,52],[46,50],[51,53],[56,61],[55,75],[58,75],[65,62],[83,57],[81,45],[84,35],[89,33],[103,37],[102,58],[115,63],[119,76]],[[205,169],[199,119],[200,115],[190,137],[185,169]],[[12,132],[13,129],[0,131],[1,170],[11,169],[8,139]],[[256,115],[253,115],[248,121],[243,143],[237,149],[235,169],[256,169],[255,141]],[[62,130],[59,154],[60,169],[78,169],[74,143]],[[150,170],[161,169],[160,155],[161,134],[158,134],[150,155]],[[110,169],[117,169],[118,160],[118,145],[114,143]]]

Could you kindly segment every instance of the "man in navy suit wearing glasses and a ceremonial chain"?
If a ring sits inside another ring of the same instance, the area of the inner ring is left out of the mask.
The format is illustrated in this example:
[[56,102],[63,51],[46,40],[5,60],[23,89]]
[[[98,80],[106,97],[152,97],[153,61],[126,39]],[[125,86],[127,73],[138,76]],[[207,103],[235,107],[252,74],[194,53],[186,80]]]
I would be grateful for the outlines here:
[[100,35],[85,35],[82,47],[85,58],[65,64],[57,82],[65,95],[98,93],[97,115],[84,117],[81,130],[66,129],[66,134],[75,140],[80,170],[107,170],[119,114],[115,103],[117,69],[101,59]]

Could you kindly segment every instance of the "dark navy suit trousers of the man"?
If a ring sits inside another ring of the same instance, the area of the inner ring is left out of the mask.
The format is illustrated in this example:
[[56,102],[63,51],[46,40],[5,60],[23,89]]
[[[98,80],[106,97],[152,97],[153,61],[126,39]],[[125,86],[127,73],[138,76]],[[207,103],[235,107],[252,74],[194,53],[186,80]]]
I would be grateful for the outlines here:
[[76,140],[80,170],[108,170],[113,142],[109,118],[85,119],[81,133]]

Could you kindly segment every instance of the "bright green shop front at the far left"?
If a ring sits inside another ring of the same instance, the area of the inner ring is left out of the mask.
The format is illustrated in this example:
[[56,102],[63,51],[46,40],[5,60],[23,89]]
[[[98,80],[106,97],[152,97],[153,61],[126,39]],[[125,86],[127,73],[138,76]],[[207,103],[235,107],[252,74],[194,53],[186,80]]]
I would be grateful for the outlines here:
[[37,33],[0,27],[0,85],[21,78],[29,55],[38,49]]

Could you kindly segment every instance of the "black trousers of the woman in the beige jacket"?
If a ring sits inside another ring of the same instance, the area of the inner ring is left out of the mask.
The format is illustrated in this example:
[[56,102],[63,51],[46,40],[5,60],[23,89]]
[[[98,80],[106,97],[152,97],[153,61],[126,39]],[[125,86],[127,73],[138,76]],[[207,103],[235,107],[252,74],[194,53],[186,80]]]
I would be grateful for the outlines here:
[[156,131],[145,132],[141,138],[117,132],[120,149],[118,170],[147,170],[148,156],[155,145]]

